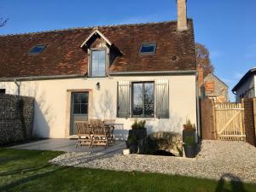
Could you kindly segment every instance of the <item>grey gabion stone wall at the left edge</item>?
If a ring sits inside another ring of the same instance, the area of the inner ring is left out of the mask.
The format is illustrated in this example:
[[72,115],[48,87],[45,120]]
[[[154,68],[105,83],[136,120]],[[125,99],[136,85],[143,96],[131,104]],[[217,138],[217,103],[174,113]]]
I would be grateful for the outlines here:
[[34,98],[0,94],[0,144],[32,137]]

